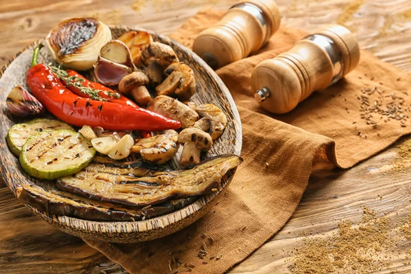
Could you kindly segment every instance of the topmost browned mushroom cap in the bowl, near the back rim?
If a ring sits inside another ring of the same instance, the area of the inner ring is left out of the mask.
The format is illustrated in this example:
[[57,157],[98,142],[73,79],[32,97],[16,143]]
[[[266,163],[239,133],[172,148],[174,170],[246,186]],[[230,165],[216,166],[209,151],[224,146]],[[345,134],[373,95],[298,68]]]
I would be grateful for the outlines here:
[[144,64],[157,62],[164,67],[179,61],[173,48],[160,42],[151,42],[145,47],[145,49],[142,50],[141,58]]

